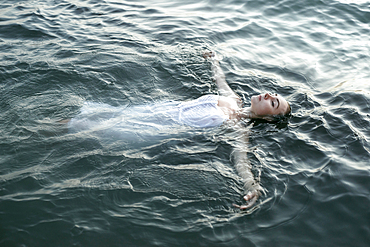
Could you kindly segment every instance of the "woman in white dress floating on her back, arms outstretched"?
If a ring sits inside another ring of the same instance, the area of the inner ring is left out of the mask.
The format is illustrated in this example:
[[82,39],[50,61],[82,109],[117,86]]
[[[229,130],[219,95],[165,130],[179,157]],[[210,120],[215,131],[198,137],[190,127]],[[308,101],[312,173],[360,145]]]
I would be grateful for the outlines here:
[[[212,64],[214,79],[220,95],[205,95],[187,102],[165,102],[154,105],[112,107],[106,104],[85,103],[81,113],[68,122],[70,131],[93,131],[103,133],[107,138],[148,142],[154,136],[169,135],[169,129],[177,126],[175,134],[180,133],[179,127],[192,126],[198,128],[216,127],[224,122],[233,121],[231,126],[241,132],[236,140],[233,157],[238,174],[243,179],[247,204],[236,207],[251,207],[262,188],[255,181],[251,165],[247,159],[247,133],[238,124],[241,119],[274,120],[276,117],[290,113],[288,102],[277,94],[260,94],[251,98],[251,106],[243,108],[242,100],[229,87],[215,53],[206,52],[203,57]],[[100,135],[100,136],[101,136]]]

